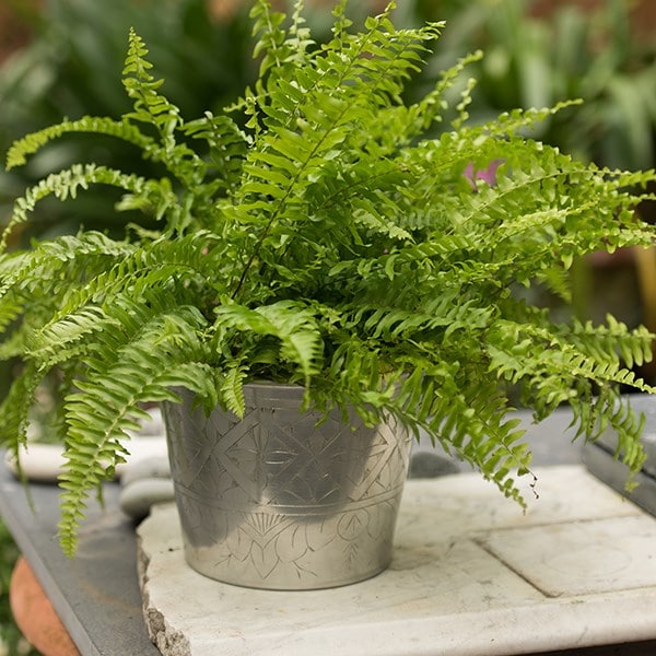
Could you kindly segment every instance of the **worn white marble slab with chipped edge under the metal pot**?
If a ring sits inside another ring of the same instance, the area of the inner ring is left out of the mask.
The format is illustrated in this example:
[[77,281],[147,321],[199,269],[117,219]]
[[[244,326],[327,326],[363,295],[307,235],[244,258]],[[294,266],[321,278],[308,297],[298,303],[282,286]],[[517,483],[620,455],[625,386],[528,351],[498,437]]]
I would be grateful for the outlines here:
[[156,507],[138,529],[151,639],[166,656],[509,656],[656,637],[656,519],[583,468],[538,477],[526,514],[478,475],[409,481],[389,570],[331,590],[210,581]]

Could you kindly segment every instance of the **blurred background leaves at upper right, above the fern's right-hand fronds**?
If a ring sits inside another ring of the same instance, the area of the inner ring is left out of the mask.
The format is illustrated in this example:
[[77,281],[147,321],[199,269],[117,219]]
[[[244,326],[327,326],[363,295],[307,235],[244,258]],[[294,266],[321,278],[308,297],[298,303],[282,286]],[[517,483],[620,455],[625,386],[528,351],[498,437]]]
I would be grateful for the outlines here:
[[530,0],[420,4],[434,17],[444,17],[443,4],[454,11],[429,75],[462,49],[485,54],[473,67],[479,84],[472,114],[583,98],[582,106],[538,126],[535,136],[600,165],[654,165],[656,39],[654,32],[636,33],[636,2],[600,0],[596,9]]

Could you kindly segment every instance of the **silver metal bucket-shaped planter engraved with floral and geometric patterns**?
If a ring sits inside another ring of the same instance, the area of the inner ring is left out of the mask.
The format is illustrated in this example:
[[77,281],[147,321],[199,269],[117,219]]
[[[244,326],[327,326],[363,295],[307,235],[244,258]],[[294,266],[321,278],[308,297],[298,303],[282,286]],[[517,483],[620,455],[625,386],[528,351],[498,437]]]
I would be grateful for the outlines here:
[[163,408],[185,557],[225,583],[313,589],[355,583],[391,560],[410,438],[340,412],[317,424],[300,387],[245,386],[239,420]]

